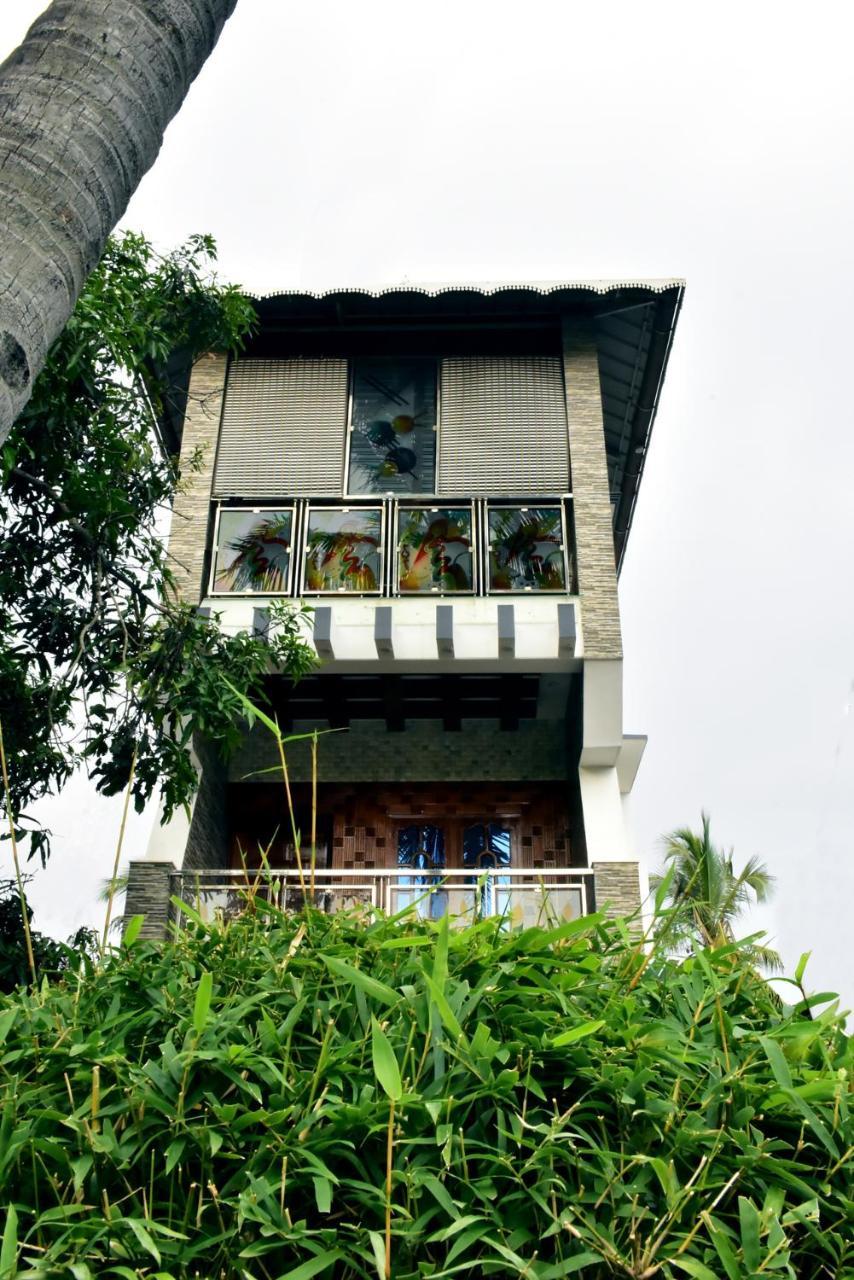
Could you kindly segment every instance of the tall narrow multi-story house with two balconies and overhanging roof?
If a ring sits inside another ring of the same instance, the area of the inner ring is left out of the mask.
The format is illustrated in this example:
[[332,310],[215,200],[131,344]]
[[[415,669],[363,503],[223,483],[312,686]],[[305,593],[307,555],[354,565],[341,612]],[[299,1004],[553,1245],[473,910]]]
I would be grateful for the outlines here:
[[[312,607],[316,673],[269,692],[287,731],[346,730],[318,749],[328,909],[639,905],[624,800],[645,740],[624,732],[617,573],[681,297],[679,280],[270,294],[243,356],[192,370],[182,457],[204,462],[175,502],[175,573],[228,628]],[[182,878],[227,905],[259,849],[303,891],[269,732],[197,755],[192,814],[131,868],[150,932]],[[288,759],[307,861],[310,739]]]

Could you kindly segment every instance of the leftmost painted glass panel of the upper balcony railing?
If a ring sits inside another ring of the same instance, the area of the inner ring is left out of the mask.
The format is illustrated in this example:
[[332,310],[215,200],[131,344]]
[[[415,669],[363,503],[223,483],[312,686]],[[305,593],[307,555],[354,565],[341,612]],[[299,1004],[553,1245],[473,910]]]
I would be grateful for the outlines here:
[[292,511],[220,511],[214,591],[287,591],[292,529]]

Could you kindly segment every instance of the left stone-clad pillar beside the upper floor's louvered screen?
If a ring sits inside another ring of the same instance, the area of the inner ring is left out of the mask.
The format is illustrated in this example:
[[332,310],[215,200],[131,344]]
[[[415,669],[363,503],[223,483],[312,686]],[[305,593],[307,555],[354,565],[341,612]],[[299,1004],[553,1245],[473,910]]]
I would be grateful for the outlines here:
[[[210,493],[216,461],[216,436],[225,390],[227,357],[200,356],[193,365],[187,396],[187,416],[181,444],[181,492],[175,494],[169,534],[170,567],[181,599],[198,604],[205,595],[205,552],[210,521]],[[189,460],[202,451],[201,467]]]

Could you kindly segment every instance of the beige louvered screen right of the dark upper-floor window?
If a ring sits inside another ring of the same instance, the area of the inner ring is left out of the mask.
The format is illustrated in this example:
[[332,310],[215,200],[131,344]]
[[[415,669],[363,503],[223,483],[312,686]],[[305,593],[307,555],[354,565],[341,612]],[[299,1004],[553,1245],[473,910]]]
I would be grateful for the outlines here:
[[553,494],[568,486],[560,360],[443,360],[438,493]]

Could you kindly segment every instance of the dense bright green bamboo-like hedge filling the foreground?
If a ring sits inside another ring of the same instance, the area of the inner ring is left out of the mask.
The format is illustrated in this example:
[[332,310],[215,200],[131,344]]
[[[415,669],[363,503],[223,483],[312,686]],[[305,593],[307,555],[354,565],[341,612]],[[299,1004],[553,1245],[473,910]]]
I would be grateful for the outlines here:
[[736,946],[248,908],[0,1001],[0,1274],[382,1277],[387,1161],[396,1280],[854,1274],[851,1043]]

